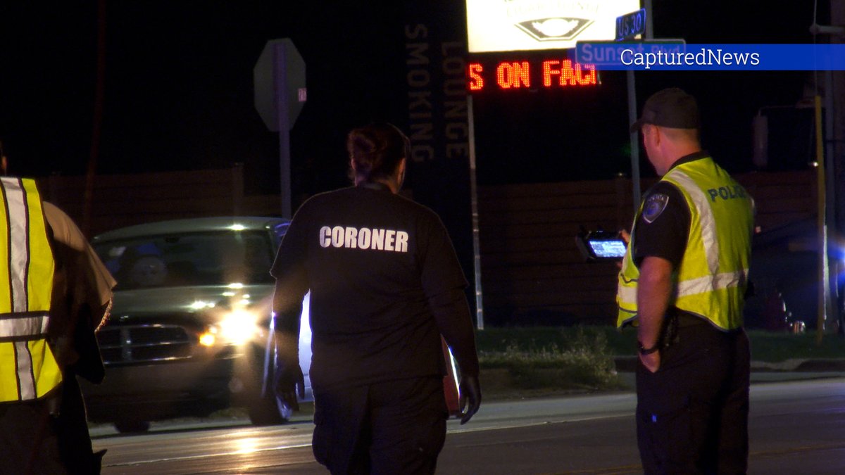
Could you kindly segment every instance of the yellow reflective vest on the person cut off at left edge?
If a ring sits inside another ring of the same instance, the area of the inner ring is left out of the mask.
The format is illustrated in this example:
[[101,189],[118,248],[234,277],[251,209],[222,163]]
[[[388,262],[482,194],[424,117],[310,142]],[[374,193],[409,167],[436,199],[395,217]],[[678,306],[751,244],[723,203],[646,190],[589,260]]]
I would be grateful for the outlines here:
[[46,341],[55,263],[35,182],[0,185],[0,402],[27,401],[62,382]]

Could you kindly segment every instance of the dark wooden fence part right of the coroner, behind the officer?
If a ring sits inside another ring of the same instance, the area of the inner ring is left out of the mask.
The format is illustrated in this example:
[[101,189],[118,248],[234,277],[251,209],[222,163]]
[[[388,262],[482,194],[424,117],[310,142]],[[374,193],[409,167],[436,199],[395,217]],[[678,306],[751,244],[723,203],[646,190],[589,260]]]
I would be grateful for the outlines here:
[[[815,173],[755,172],[736,177],[755,198],[756,226],[771,229],[815,216]],[[642,189],[654,183],[643,180]],[[613,263],[586,263],[581,227],[630,229],[630,179],[482,187],[478,192],[485,321],[492,325],[610,324]]]

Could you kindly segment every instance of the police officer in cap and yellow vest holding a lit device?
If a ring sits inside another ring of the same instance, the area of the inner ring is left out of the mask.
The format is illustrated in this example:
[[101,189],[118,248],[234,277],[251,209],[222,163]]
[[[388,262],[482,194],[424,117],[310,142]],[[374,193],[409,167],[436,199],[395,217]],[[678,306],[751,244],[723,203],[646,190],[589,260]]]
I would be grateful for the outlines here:
[[701,150],[698,106],[683,90],[649,97],[636,130],[662,177],[635,216],[617,292],[617,325],[635,325],[639,341],[643,469],[744,473],[754,202]]

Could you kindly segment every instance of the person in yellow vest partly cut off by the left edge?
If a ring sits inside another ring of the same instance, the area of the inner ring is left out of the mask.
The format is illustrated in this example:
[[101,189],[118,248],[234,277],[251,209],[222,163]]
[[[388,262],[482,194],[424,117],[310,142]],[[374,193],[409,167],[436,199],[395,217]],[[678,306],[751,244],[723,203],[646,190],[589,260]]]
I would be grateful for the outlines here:
[[115,282],[33,180],[0,177],[0,192],[0,472],[99,473],[76,375],[103,377]]

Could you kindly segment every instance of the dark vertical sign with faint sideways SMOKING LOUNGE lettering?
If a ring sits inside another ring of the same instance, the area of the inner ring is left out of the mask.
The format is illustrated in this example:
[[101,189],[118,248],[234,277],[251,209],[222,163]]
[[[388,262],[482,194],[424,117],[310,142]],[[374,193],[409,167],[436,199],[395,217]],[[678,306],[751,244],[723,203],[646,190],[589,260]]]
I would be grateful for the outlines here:
[[461,2],[412,0],[403,28],[409,184],[414,199],[439,214],[472,276],[465,20]]

